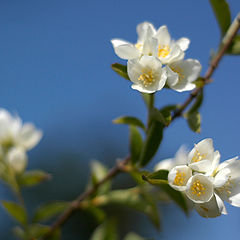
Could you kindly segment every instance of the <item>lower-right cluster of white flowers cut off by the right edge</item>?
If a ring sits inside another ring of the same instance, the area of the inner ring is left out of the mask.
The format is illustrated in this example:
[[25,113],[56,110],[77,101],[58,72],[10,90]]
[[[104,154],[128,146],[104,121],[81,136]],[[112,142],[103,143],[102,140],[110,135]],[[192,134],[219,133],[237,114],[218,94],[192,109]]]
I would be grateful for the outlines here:
[[[188,154],[178,152],[176,156],[177,162],[165,160],[172,164],[165,164],[169,170],[175,165],[168,174],[169,185],[183,192],[201,216],[213,218],[227,214],[223,201],[240,207],[240,160],[237,157],[220,164],[220,153],[214,150],[212,139],[204,139]],[[160,167],[165,168],[159,164],[157,169]]]

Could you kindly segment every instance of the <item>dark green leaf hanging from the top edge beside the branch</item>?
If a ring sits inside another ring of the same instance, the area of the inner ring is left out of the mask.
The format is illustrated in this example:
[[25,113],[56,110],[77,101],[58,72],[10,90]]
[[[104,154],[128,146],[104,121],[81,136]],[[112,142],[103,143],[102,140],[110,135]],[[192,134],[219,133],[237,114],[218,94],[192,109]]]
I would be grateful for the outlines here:
[[225,0],[210,0],[210,3],[218,21],[221,34],[224,36],[231,24],[229,5]]

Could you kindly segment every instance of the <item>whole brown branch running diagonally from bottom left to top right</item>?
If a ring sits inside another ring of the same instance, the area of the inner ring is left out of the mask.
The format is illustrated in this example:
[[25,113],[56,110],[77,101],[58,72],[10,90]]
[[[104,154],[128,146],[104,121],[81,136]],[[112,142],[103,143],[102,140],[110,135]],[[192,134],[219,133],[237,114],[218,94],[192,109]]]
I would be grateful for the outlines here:
[[[239,27],[240,27],[240,15],[237,16],[236,20],[234,21],[234,27],[230,27],[231,33],[227,33],[226,35],[229,36],[227,39],[224,38],[224,42],[218,51],[217,55],[213,58],[211,61],[209,68],[204,76],[204,85],[208,83],[210,80],[214,70],[217,68],[220,60],[222,59],[224,53],[229,48],[230,44],[232,43],[234,37],[236,36]],[[194,98],[198,95],[198,93],[201,91],[202,87],[197,88],[194,90],[190,96],[186,99],[186,101],[180,106],[180,108],[174,113],[172,120],[176,119],[177,117],[181,116],[183,111],[189,106],[189,104],[193,101]],[[97,189],[108,180],[112,179],[116,175],[118,175],[120,172],[124,171],[124,166],[127,165],[130,161],[130,157],[125,158],[121,162],[118,162],[115,167],[113,167],[108,174],[103,178],[101,181],[96,183],[92,188],[89,188],[85,192],[83,192],[81,195],[79,195],[78,198],[76,198],[74,201],[72,201],[70,207],[63,212],[63,214],[54,222],[47,234],[45,234],[42,239],[46,239],[47,237],[51,236],[51,234],[61,227],[68,219],[69,217],[79,208],[80,203],[85,200],[86,198],[90,197],[93,193],[97,191]]]

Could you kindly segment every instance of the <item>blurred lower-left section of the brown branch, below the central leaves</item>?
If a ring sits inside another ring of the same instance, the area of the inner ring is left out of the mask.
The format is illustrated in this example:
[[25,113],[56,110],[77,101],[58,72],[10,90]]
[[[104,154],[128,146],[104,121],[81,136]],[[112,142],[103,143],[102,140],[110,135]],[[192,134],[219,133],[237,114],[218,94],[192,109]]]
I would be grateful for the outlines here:
[[69,208],[65,212],[63,212],[63,214],[56,220],[56,222],[52,224],[51,229],[49,230],[49,232],[47,232],[47,234],[45,234],[42,237],[42,239],[46,239],[47,237],[51,236],[56,229],[62,226],[68,220],[68,218],[73,214],[73,212],[79,209],[79,205],[81,201],[85,200],[86,198],[90,197],[93,193],[95,193],[103,183],[112,179],[113,177],[118,175],[120,172],[123,172],[125,165],[127,165],[129,161],[130,161],[130,157],[127,157],[121,162],[117,162],[117,164],[108,172],[108,174],[102,180],[97,182],[93,187],[89,188],[88,190],[83,192],[81,195],[79,195],[78,198],[72,201]]

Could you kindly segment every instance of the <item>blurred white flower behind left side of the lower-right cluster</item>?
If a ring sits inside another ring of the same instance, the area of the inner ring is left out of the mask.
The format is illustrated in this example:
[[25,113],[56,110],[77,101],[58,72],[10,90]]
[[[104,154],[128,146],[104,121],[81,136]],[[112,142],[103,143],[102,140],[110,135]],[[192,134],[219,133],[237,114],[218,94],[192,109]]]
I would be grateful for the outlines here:
[[154,171],[158,171],[161,169],[170,171],[172,168],[178,165],[187,164],[187,160],[188,160],[187,157],[188,157],[188,152],[186,150],[186,147],[183,145],[178,149],[174,158],[164,159],[159,163],[157,163],[154,167]]

